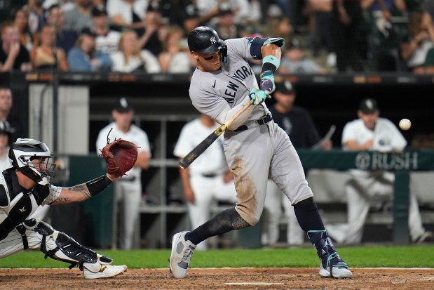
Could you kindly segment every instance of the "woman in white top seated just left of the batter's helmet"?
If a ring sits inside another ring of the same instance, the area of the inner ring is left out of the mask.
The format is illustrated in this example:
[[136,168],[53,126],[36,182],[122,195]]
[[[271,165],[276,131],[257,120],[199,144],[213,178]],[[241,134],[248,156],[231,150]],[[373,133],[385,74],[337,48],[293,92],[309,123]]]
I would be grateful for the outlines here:
[[182,45],[184,30],[181,27],[170,27],[163,41],[164,51],[158,55],[161,72],[188,73],[195,66],[195,60],[189,49]]

